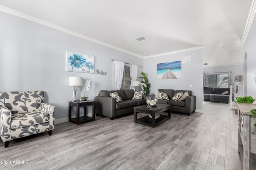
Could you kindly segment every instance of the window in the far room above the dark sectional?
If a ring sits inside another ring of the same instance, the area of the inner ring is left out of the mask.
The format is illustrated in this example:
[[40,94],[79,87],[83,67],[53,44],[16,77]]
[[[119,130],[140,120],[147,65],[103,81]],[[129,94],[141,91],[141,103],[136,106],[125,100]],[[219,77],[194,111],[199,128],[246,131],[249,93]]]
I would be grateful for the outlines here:
[[228,88],[228,74],[208,74],[207,87]]

